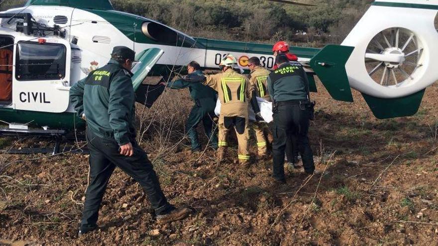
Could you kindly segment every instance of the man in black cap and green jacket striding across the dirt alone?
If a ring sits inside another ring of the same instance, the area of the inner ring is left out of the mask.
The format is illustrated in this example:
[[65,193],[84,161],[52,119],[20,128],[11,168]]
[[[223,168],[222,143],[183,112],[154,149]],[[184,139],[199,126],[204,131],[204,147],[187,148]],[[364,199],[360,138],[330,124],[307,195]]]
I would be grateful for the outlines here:
[[70,101],[87,122],[90,150],[90,185],[87,188],[79,236],[96,230],[99,206],[117,166],[143,187],[160,224],[188,216],[164,196],[147,154],[135,141],[134,90],[130,72],[135,52],[114,47],[111,60],[70,89]]

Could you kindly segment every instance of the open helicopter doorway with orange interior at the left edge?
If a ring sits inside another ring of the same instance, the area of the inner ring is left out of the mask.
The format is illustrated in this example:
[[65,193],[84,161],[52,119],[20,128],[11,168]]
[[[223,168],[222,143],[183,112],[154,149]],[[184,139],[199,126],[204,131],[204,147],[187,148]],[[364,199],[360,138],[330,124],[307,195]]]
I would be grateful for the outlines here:
[[13,41],[0,36],[0,106],[12,102]]

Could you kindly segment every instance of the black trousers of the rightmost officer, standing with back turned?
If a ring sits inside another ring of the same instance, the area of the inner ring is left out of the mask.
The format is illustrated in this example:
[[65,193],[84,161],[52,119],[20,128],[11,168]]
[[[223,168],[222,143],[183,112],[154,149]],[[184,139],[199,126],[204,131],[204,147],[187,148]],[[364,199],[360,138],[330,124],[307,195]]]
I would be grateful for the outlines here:
[[274,111],[274,123],[272,124],[273,176],[276,179],[284,179],[284,155],[286,143],[290,136],[297,140],[298,150],[301,154],[304,170],[307,173],[315,171],[313,152],[310,148],[309,137],[309,110],[304,105],[288,104],[279,102]]

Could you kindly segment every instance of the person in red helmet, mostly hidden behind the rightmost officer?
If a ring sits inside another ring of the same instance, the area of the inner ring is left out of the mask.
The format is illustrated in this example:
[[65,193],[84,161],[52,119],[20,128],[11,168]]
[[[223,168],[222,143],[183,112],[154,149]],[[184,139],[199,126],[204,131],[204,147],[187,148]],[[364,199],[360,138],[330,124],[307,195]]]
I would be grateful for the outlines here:
[[[295,54],[290,53],[289,44],[285,41],[279,41],[276,44],[274,44],[272,48],[272,52],[274,53],[274,56],[277,55],[286,55],[288,60],[298,61],[298,57]],[[278,68],[277,64],[274,65],[273,70],[276,70]],[[294,168],[298,169],[300,166],[298,165],[298,145],[297,140],[293,136],[289,136],[286,143],[286,158],[288,160],[289,166],[293,166]]]

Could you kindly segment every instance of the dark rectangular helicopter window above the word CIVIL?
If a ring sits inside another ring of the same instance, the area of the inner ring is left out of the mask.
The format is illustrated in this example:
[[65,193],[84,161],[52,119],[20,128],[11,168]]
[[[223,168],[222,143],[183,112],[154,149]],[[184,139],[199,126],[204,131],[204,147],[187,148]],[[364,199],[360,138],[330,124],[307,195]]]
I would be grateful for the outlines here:
[[15,78],[18,81],[63,79],[65,77],[66,51],[62,44],[19,43]]

